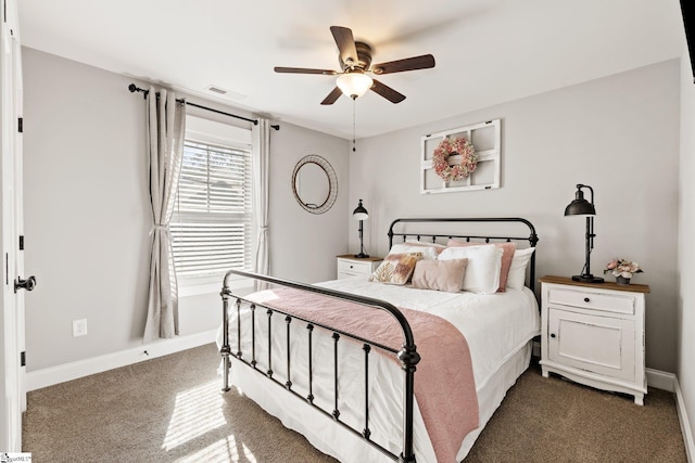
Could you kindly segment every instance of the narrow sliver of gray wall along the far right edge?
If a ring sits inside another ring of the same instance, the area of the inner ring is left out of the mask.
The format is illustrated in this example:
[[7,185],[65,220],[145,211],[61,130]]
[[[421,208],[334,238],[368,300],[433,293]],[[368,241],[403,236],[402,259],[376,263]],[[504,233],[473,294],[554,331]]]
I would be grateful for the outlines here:
[[[679,325],[677,375],[695,442],[695,86],[687,51],[681,60],[681,164],[679,236]],[[694,459],[695,455],[690,455]]]

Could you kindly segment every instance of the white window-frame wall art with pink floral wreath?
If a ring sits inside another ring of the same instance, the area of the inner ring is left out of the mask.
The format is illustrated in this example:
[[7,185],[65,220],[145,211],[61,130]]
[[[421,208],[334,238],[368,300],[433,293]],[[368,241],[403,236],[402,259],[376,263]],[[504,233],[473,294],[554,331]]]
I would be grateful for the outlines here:
[[501,120],[421,138],[420,194],[500,188]]

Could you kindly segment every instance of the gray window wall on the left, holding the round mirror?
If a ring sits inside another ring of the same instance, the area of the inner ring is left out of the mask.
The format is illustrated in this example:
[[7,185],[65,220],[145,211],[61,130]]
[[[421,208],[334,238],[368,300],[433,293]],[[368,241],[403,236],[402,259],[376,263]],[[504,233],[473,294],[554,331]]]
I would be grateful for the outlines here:
[[[127,91],[134,79],[27,48],[23,60],[25,257],[39,283],[26,298],[26,347],[35,371],[141,345],[151,213],[146,106]],[[271,273],[332,279],[333,256],[348,243],[348,141],[280,125],[270,136]],[[306,154],[338,173],[338,201],[323,216],[292,196],[292,169]],[[217,294],[182,298],[181,335],[216,329],[219,309]],[[88,335],[72,337],[72,321],[84,318]]]

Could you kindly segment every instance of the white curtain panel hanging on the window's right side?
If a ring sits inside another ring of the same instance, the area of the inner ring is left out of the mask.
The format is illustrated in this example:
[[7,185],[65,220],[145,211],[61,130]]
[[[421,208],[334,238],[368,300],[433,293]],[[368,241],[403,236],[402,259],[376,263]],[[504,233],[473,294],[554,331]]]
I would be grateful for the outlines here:
[[[268,191],[270,168],[270,121],[258,119],[253,126],[253,215],[256,224],[256,246],[253,271],[268,274],[270,270],[270,254],[268,252]],[[265,290],[269,285],[256,281],[256,291]]]

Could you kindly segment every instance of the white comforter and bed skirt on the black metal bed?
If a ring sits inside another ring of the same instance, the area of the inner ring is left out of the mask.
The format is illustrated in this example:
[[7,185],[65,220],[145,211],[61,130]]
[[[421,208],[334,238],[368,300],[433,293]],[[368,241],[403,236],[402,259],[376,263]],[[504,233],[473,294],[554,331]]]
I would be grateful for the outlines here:
[[[518,374],[528,365],[528,344],[540,333],[540,317],[536,300],[530,290],[507,290],[506,293],[493,295],[477,295],[472,293],[443,293],[427,290],[415,290],[396,285],[387,285],[368,282],[366,278],[343,279],[318,283],[319,286],[338,290],[346,293],[364,295],[387,300],[396,307],[422,310],[450,321],[466,337],[472,359],[476,390],[479,395],[480,422],[484,426],[492,412],[497,408],[507,388],[514,384]],[[258,311],[257,311],[258,312]],[[230,346],[231,351],[237,351],[235,320],[236,311],[230,318]],[[279,318],[278,318],[279,319]],[[260,332],[265,331],[265,311],[256,313],[256,359],[262,365],[260,370],[266,371],[267,342]],[[274,333],[278,338],[273,345],[274,377],[286,378],[285,366],[285,323],[274,321]],[[249,324],[250,326],[250,324]],[[300,334],[303,327],[299,324],[292,326],[292,356],[301,356],[306,351],[305,337]],[[296,334],[296,335],[295,335]],[[324,344],[317,338],[314,340],[316,352],[314,355],[314,395],[316,402],[323,407],[332,409],[332,360],[321,363],[320,356],[332,359],[330,339]],[[417,344],[417,339],[416,339]],[[249,361],[250,339],[242,337],[241,350]],[[321,347],[323,346],[323,347]],[[323,348],[326,350],[321,352]],[[363,399],[356,403],[350,399],[363,397],[363,381],[344,380],[359,377],[364,366],[361,363],[364,353],[355,347],[353,351],[341,347],[342,357],[353,357],[356,361],[344,363],[341,360],[340,402],[341,420],[362,429]],[[233,358],[232,358],[233,360]],[[321,366],[324,364],[324,366]],[[401,440],[392,435],[392,428],[400,429],[402,423],[401,397],[402,372],[399,366],[388,360],[381,361],[378,356],[370,357],[369,384],[370,397],[374,399],[370,406],[369,427],[374,439],[389,450],[400,453]],[[286,426],[305,435],[307,439],[319,450],[338,458],[344,462],[381,461],[384,456],[379,451],[362,442],[361,438],[348,433],[340,426],[336,426],[332,420],[319,412],[306,407],[303,400],[290,397],[279,390],[262,375],[251,372],[244,365],[232,362],[231,384],[241,388],[244,394],[258,402],[269,413],[278,416]],[[328,381],[321,382],[319,371],[328,373]],[[306,389],[307,368],[302,362],[292,361],[291,380],[293,389]],[[416,373],[417,381],[417,373]],[[383,399],[389,398],[389,399]],[[416,398],[417,404],[417,398]],[[429,441],[422,417],[415,410],[414,420],[415,452],[418,462],[435,462],[434,451]],[[460,461],[467,454],[475,438],[481,428],[469,435],[457,454]]]

